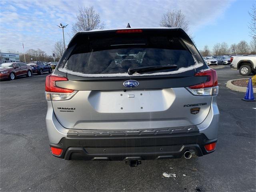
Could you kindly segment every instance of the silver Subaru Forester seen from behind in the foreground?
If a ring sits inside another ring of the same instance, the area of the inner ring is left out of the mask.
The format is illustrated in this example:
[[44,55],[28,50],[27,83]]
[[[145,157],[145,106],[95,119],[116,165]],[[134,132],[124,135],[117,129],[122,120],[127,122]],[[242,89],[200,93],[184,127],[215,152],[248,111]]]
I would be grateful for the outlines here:
[[216,148],[217,74],[180,28],[78,32],[45,89],[58,158],[137,166]]

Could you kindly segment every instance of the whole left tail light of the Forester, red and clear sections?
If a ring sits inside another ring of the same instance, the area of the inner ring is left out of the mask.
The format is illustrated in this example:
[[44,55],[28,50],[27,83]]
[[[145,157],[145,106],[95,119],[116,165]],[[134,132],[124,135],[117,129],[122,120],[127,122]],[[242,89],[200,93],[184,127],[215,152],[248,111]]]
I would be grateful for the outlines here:
[[56,86],[57,81],[68,81],[68,78],[57,75],[48,75],[45,80],[45,98],[48,101],[68,100],[76,94],[75,90]]

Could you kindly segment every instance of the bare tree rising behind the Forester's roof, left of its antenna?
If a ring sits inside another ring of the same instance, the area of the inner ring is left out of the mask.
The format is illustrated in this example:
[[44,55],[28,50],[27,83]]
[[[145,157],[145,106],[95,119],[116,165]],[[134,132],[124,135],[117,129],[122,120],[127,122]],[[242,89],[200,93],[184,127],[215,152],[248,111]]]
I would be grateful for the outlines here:
[[100,20],[100,14],[97,13],[92,6],[79,7],[76,14],[77,22],[72,24],[72,33],[85,31],[86,28],[103,29],[105,24]]

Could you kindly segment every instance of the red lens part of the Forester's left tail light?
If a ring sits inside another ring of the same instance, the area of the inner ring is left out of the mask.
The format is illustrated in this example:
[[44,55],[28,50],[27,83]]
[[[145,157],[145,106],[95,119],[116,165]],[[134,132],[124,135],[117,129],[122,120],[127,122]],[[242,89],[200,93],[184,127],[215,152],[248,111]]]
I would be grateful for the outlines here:
[[56,76],[56,75],[52,75],[52,74],[46,76],[45,91],[57,92],[57,93],[72,93],[72,92],[74,92],[74,90],[57,87],[55,84],[56,81],[68,81],[68,78],[63,77],[63,76]]

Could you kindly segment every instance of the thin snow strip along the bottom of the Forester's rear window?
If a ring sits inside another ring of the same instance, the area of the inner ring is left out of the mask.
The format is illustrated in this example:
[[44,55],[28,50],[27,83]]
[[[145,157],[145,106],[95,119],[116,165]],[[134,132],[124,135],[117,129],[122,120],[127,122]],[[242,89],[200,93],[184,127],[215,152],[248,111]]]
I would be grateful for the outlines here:
[[82,76],[82,77],[132,77],[132,76],[152,76],[152,75],[168,75],[168,74],[179,74],[183,73],[186,71],[194,70],[196,68],[202,67],[204,64],[203,63],[198,63],[196,62],[194,65],[188,66],[188,67],[181,67],[176,71],[170,71],[170,72],[156,72],[156,73],[151,73],[151,74],[138,74],[134,73],[133,75],[129,75],[127,72],[126,73],[113,73],[113,74],[84,74],[81,72],[74,72],[72,70],[68,70],[66,66],[64,68],[58,68],[59,71],[68,73],[71,75],[76,75],[76,76]]

